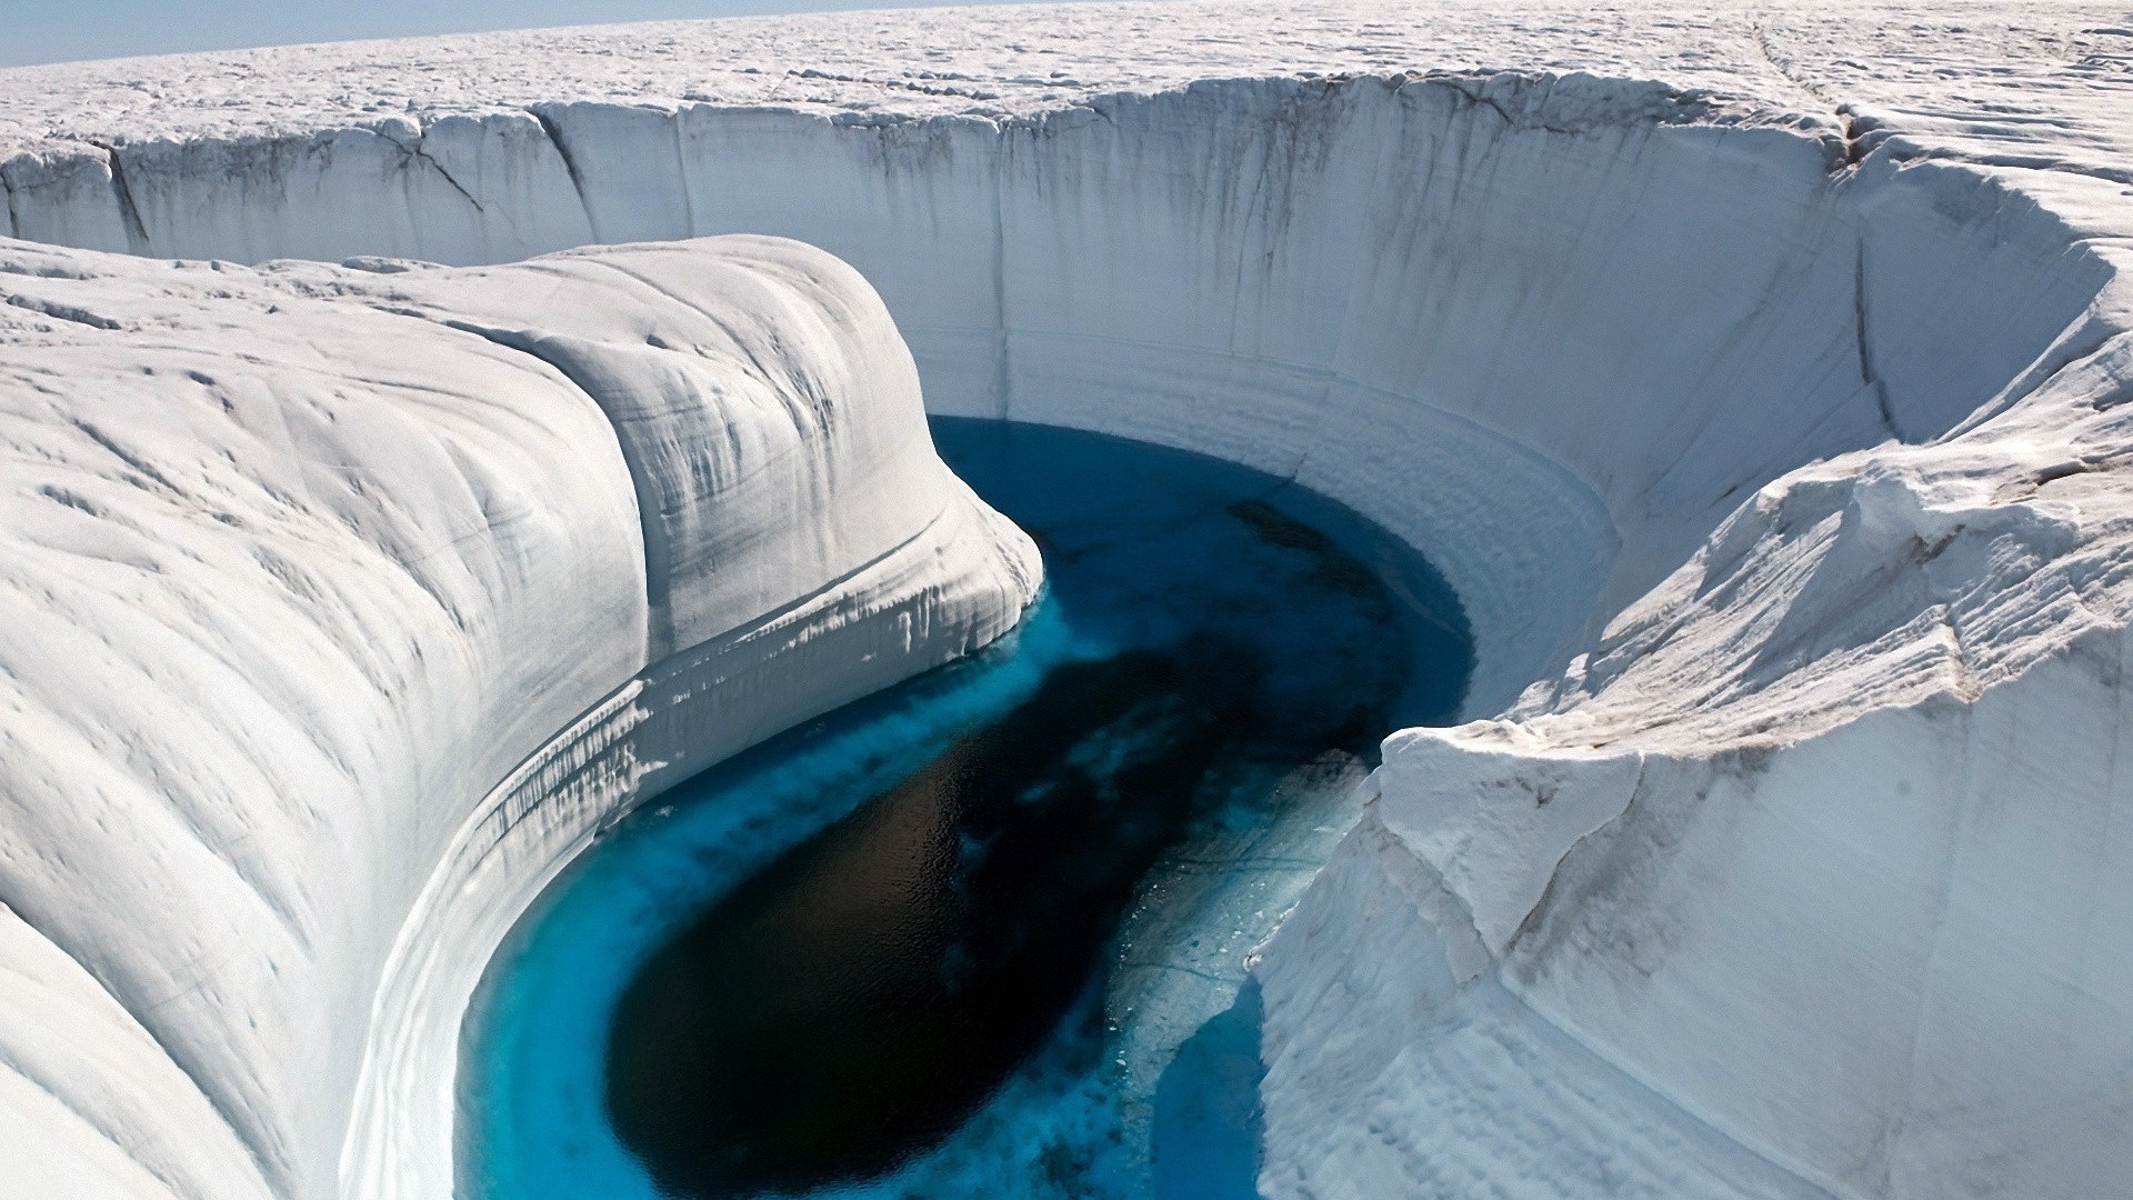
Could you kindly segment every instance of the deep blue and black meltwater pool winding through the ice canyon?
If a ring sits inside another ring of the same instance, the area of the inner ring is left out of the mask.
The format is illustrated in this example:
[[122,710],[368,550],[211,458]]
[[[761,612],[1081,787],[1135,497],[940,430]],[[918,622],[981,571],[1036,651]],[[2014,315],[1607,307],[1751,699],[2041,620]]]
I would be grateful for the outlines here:
[[461,1194],[1252,1194],[1246,957],[1378,741],[1457,713],[1459,602],[1261,472],[1003,421],[934,440],[1045,596],[542,895],[467,1019]]

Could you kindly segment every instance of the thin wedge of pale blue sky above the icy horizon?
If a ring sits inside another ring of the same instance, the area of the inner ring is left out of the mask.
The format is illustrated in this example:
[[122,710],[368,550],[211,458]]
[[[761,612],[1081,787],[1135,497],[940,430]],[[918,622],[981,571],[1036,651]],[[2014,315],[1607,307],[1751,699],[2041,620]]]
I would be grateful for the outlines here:
[[[0,0],[0,66],[465,30],[949,0]],[[966,0],[964,0],[966,2]]]

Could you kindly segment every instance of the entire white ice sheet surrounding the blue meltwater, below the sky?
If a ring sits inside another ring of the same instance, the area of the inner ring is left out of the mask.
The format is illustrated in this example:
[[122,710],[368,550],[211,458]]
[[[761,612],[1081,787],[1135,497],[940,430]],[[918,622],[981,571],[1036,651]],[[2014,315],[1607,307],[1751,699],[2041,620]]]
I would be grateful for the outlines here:
[[[446,1196],[552,871],[1037,587],[919,378],[1465,604],[1256,957],[1263,1194],[2133,1194],[2122,6],[115,60],[0,73],[0,184],[9,1196]],[[851,267],[518,263],[725,233]]]

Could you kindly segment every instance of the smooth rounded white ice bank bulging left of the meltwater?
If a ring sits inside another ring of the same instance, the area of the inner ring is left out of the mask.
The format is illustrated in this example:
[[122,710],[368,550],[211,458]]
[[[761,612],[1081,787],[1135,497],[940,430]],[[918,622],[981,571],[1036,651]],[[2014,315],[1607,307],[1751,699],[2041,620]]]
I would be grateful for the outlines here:
[[597,822],[1037,583],[798,243],[6,243],[0,293],[9,1194],[328,1196],[352,1121],[416,1170],[369,1098],[450,1130],[474,980]]

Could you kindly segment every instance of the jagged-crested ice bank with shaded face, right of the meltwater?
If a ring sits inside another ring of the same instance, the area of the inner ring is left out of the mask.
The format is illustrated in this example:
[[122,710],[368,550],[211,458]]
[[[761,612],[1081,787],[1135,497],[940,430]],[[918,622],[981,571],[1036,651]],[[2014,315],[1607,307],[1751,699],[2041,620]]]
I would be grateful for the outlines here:
[[[2124,1189],[2129,299],[1960,431],[1766,485],[1506,720],[1386,743],[1354,848],[1263,952],[1263,1183],[1485,1157],[1429,1115],[1525,1087],[1476,1040],[1561,1031],[1557,1085],[1655,1121],[1627,1144],[1704,1170],[1717,1134],[1792,1181],[1696,1194]],[[1322,997],[1389,1004],[1333,948],[1389,903],[1410,916],[1374,954],[1438,974],[1361,1053],[1333,1029],[1365,1019]],[[1395,1104],[1369,1138],[1308,1117],[1359,1095]],[[1519,1102],[1489,1170],[1606,1127],[1563,1095]],[[1640,1153],[1615,1194],[1653,1187]]]

